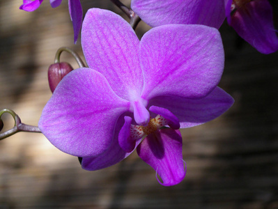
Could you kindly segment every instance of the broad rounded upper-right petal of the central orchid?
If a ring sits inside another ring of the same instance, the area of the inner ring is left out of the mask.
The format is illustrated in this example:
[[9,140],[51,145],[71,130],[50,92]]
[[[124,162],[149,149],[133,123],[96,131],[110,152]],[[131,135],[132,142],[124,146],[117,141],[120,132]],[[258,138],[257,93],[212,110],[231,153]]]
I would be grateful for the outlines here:
[[158,26],[142,37],[139,52],[145,100],[204,97],[217,86],[224,68],[219,31],[203,25]]

